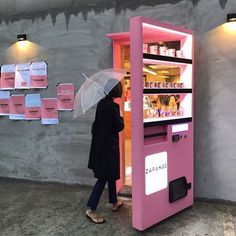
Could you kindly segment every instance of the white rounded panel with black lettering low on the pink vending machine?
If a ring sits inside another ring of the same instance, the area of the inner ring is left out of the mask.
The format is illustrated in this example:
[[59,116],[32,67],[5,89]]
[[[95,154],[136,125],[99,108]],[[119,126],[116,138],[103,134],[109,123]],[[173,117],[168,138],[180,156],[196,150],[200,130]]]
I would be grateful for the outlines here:
[[167,152],[145,157],[145,194],[150,195],[167,188]]

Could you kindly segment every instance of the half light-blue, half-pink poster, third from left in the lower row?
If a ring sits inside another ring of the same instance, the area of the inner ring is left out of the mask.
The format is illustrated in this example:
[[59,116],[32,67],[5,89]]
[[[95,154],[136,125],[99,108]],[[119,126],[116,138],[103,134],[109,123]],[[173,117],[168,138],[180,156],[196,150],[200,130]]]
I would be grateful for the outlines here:
[[40,94],[26,94],[25,96],[25,119],[41,119],[41,96]]

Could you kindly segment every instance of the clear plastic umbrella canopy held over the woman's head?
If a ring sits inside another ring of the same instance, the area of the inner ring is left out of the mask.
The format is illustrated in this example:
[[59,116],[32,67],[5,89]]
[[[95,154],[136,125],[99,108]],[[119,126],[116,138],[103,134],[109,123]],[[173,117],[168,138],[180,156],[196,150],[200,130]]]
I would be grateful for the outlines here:
[[123,69],[105,69],[86,77],[75,96],[73,118],[83,115],[104,98],[126,75]]

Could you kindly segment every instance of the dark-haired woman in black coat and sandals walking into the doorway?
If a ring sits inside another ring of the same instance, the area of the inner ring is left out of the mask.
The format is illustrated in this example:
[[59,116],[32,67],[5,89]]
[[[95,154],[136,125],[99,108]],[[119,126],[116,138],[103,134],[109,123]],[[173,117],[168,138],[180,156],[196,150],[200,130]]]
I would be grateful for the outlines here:
[[[124,129],[120,107],[114,102],[122,96],[122,84],[110,79],[107,87],[116,86],[97,105],[95,121],[92,126],[92,142],[88,168],[94,172],[97,182],[88,200],[86,216],[94,223],[101,224],[105,220],[96,213],[97,205],[106,182],[108,182],[109,202],[112,210],[117,211],[123,202],[117,200],[116,180],[120,178],[119,132]],[[106,90],[105,86],[105,90]]]

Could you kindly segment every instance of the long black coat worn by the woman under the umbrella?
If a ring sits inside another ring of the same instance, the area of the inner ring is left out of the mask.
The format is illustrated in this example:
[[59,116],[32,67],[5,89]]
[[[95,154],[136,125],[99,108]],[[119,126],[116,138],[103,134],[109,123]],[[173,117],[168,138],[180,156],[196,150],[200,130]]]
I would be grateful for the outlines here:
[[97,105],[92,126],[92,142],[88,168],[103,180],[120,178],[119,132],[124,128],[120,107],[110,96]]

